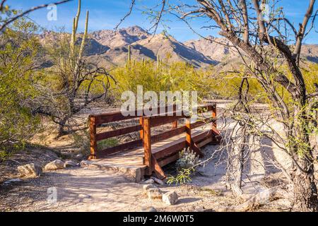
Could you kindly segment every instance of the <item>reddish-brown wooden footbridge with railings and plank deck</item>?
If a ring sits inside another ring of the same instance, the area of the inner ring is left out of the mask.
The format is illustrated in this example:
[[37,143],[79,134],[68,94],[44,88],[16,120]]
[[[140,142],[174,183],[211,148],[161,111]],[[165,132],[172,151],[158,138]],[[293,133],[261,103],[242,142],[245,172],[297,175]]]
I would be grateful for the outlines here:
[[[197,108],[199,119],[192,122],[189,116],[172,107],[165,107],[165,114],[137,116],[135,112],[109,112],[90,115],[90,162],[98,167],[125,172],[139,182],[143,176],[155,173],[165,178],[162,167],[175,162],[179,151],[191,148],[200,157],[201,148],[208,143],[218,144],[220,133],[216,129],[216,104],[202,105]],[[145,112],[145,111],[143,111]],[[158,108],[155,112],[160,112]],[[128,115],[128,116],[124,116]],[[141,115],[141,114],[139,114]],[[100,128],[120,121],[135,121],[135,125],[111,131]],[[182,122],[183,121],[183,122]],[[164,128],[156,132],[156,128]],[[108,138],[139,133],[139,138],[104,150],[98,149],[98,142]]]

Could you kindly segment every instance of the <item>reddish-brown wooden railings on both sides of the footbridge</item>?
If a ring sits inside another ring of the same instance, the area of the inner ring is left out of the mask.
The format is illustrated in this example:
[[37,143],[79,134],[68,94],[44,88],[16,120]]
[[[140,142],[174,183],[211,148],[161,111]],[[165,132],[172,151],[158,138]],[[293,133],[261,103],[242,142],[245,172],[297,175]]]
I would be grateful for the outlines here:
[[[165,110],[171,106],[166,106]],[[158,111],[161,107],[158,107]],[[187,118],[187,114],[184,114],[184,112],[176,111],[176,105],[173,106],[173,112],[165,112],[165,114],[156,114],[153,116],[124,116],[122,112],[109,112],[106,114],[95,114],[90,115],[89,120],[89,127],[90,127],[90,159],[95,159],[97,157],[105,157],[107,155],[110,155],[112,153],[117,153],[121,150],[127,150],[130,148],[134,148],[135,146],[143,145],[145,148],[145,160],[146,165],[151,165],[151,144],[156,143],[158,141],[163,141],[167,138],[171,138],[172,136],[177,136],[178,134],[187,132],[187,143],[189,143],[189,146],[192,148],[195,148],[193,146],[193,143],[190,142],[192,140],[191,138],[191,129],[194,129],[198,126],[201,126],[202,124],[206,123],[209,119],[205,119],[203,121],[196,121],[192,124],[186,124],[186,126],[177,127],[177,120],[182,118]],[[209,105],[201,105],[197,107],[198,112],[210,112],[212,110],[212,117],[213,119],[216,118],[216,104],[209,104]],[[137,113],[139,110],[136,110],[134,112],[130,112],[131,114]],[[127,113],[127,112],[126,112]],[[174,116],[169,116],[169,114],[172,114]],[[181,114],[180,116],[177,116],[177,114]],[[96,133],[96,129],[101,124],[110,123],[112,121],[122,121],[127,119],[135,119],[139,118],[139,125],[136,126],[129,126],[122,129],[115,129],[112,131],[106,131],[103,133]],[[211,119],[210,119],[211,120]],[[146,124],[145,124],[146,121]],[[160,134],[156,134],[154,136],[151,136],[151,128],[155,126],[160,126],[163,124],[172,123],[172,130],[165,131]],[[216,129],[216,120],[213,121],[213,127]],[[146,129],[146,131],[145,131]],[[106,148],[105,150],[97,150],[97,142],[102,141],[107,138],[112,138],[116,136],[122,136],[127,133],[133,133],[135,131],[139,131],[140,133],[140,139],[136,141],[130,141],[128,143],[123,143],[120,145],[117,145],[112,148]],[[189,141],[189,142],[188,142]],[[146,144],[145,144],[146,143]]]

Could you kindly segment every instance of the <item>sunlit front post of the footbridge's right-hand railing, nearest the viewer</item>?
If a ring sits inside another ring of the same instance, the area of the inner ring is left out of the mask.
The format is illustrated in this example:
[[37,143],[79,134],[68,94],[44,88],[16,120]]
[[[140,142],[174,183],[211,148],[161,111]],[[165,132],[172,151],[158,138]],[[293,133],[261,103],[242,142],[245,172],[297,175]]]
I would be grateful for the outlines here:
[[143,118],[143,149],[144,149],[144,162],[143,164],[148,167],[148,174],[151,174],[153,165],[151,158],[151,119]]

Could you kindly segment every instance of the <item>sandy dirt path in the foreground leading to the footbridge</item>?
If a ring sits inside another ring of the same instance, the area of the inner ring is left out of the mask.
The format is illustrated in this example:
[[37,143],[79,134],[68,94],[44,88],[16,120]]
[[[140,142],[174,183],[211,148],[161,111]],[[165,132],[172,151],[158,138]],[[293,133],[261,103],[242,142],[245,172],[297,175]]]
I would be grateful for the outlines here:
[[[62,169],[38,179],[2,185],[0,211],[140,211],[151,206],[159,211],[193,211],[232,203],[230,196],[194,184],[195,181],[187,186],[161,187],[179,194],[176,206],[166,206],[161,201],[148,200],[143,195],[143,184],[131,183],[114,172]],[[47,203],[52,188],[57,191],[57,203],[53,204]]]

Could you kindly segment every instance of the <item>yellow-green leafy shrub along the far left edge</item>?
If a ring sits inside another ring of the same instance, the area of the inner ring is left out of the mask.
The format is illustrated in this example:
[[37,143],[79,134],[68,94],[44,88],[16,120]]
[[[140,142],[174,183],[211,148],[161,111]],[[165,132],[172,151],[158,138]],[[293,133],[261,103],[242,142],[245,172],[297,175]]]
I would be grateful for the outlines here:
[[23,145],[40,124],[29,107],[37,96],[40,43],[35,32],[33,23],[21,19],[0,36],[0,158]]

